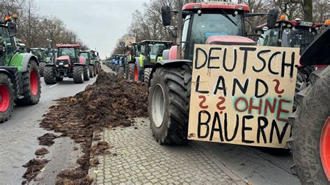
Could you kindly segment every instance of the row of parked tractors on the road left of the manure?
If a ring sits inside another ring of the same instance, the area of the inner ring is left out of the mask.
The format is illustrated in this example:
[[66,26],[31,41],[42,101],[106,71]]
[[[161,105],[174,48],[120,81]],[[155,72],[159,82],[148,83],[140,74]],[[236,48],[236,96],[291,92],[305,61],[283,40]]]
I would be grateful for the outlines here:
[[[0,123],[13,113],[14,104],[38,104],[41,94],[40,77],[46,84],[73,78],[84,83],[101,70],[97,51],[81,51],[80,45],[56,45],[56,48],[26,49],[17,33],[16,14],[0,20]],[[27,50],[30,50],[27,52]]]

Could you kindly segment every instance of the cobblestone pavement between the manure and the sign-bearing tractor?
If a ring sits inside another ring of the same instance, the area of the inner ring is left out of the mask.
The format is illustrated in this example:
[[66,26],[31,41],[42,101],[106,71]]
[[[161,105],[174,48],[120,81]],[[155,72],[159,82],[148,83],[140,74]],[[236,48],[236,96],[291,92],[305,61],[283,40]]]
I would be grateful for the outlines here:
[[101,136],[114,147],[89,171],[96,184],[245,184],[194,142],[159,145],[148,119],[136,119],[134,127],[105,130]]

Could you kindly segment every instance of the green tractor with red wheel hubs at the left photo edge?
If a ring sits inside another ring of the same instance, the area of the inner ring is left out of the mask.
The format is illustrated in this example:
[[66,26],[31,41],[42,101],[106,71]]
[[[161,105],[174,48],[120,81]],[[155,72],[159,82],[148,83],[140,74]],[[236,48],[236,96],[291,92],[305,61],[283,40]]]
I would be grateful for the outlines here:
[[38,58],[21,53],[15,41],[17,26],[7,16],[0,22],[0,122],[5,122],[18,106],[38,104],[40,74]]

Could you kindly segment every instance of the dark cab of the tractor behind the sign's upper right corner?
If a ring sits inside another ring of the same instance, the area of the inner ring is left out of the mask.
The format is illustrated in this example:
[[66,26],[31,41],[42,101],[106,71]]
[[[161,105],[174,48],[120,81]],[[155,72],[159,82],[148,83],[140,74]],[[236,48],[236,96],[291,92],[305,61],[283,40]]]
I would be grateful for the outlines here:
[[273,47],[299,47],[300,53],[317,37],[317,31],[323,24],[304,22],[301,19],[287,20],[282,15],[275,24],[274,29],[268,29],[265,24],[256,28],[259,35],[258,45]]

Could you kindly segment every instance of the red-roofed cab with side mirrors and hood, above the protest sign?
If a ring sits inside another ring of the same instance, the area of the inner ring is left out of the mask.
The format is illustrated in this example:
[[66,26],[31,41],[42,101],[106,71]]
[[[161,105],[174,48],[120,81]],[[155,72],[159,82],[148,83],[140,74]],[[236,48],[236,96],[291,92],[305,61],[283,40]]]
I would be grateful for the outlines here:
[[[181,2],[182,3],[182,2]],[[180,8],[182,7],[182,9]],[[221,44],[221,45],[256,45],[246,37],[244,26],[245,17],[267,16],[267,26],[274,27],[278,10],[270,10],[268,14],[249,13],[250,8],[243,3],[230,2],[203,2],[179,4],[178,28],[171,26],[171,13],[169,6],[162,7],[164,26],[171,31],[178,31],[177,45],[165,56],[168,59],[185,58],[192,61],[194,45]],[[182,22],[183,20],[183,22]],[[181,28],[180,25],[183,25]]]

